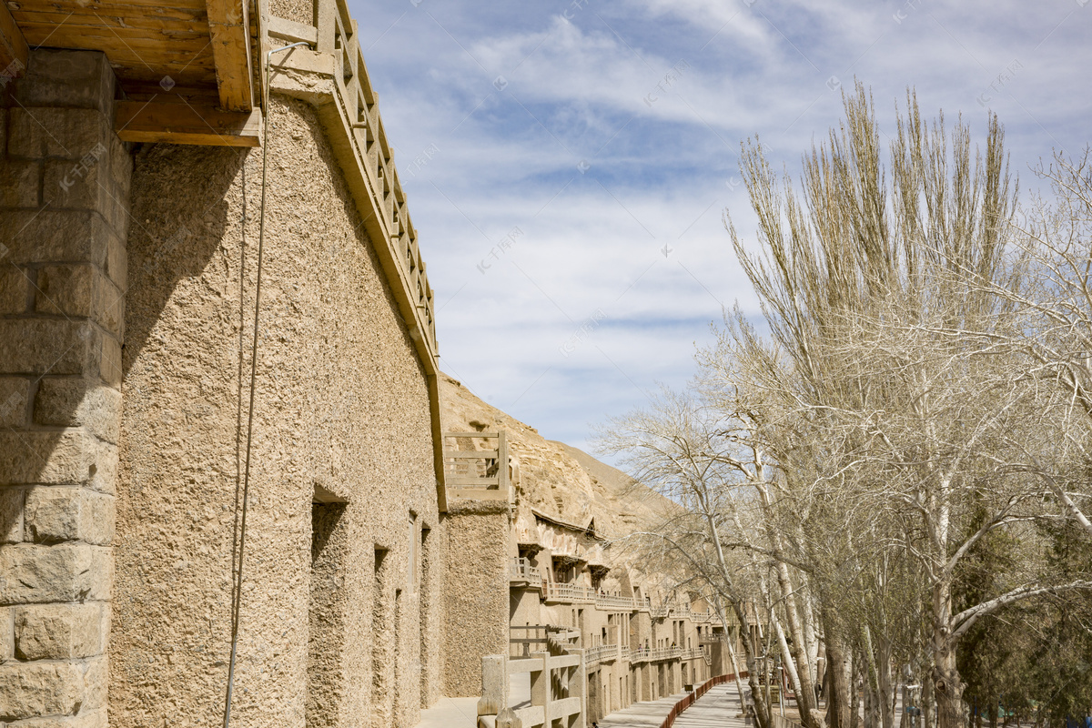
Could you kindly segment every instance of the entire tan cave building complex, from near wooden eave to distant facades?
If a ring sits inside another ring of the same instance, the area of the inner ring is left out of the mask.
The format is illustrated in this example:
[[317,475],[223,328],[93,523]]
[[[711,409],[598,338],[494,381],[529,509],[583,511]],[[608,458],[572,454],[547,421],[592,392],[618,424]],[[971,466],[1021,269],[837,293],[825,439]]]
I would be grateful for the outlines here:
[[524,725],[571,728],[731,669],[606,548],[651,513],[606,466],[459,419],[344,0],[2,3],[0,84],[0,724],[230,682],[235,726],[410,727],[548,654]]

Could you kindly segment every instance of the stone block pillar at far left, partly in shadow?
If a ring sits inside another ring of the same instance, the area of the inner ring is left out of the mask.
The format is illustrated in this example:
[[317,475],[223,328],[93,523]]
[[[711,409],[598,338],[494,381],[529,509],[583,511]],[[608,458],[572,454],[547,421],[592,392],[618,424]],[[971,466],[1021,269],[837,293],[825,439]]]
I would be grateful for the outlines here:
[[105,56],[27,65],[0,123],[0,723],[102,727],[130,159]]

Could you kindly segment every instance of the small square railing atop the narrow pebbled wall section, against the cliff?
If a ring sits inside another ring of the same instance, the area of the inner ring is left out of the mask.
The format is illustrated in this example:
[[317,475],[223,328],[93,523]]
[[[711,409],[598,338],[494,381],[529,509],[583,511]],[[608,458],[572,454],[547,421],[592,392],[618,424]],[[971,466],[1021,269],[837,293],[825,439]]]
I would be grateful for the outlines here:
[[[479,450],[479,444],[485,449]],[[505,431],[444,432],[443,472],[449,498],[509,500]]]

